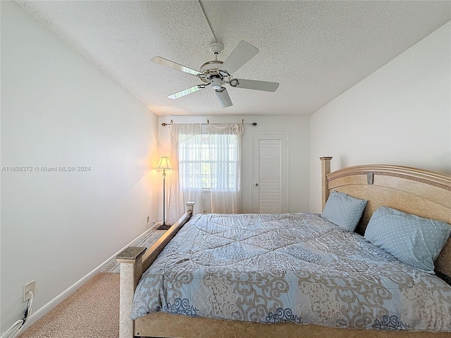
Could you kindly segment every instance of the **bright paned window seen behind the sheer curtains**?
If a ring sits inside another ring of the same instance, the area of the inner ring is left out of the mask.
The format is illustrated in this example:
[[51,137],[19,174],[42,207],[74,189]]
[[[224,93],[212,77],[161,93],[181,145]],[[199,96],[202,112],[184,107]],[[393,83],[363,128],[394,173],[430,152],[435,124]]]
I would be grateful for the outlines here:
[[178,144],[181,191],[236,192],[237,134],[193,134]]

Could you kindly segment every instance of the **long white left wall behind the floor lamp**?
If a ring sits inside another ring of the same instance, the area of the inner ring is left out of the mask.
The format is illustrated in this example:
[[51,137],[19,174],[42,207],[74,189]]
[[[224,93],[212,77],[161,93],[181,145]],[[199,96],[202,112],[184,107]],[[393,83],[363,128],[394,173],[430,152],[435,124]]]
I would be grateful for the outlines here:
[[[1,1],[1,330],[97,268],[155,215],[158,118],[10,1]],[[46,306],[47,304],[47,306]],[[42,311],[41,311],[42,313]]]

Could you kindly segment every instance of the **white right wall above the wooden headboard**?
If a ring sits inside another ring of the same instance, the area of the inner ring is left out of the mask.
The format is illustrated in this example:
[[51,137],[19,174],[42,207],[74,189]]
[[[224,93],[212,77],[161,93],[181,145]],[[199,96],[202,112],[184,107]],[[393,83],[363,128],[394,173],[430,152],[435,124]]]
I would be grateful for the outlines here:
[[451,173],[451,23],[310,118],[310,211],[321,212],[321,163],[386,163]]

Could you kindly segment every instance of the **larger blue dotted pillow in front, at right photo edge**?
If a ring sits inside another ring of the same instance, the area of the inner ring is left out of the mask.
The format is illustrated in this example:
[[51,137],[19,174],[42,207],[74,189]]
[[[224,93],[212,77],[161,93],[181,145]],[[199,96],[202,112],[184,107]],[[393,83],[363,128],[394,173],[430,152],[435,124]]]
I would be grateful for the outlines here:
[[427,273],[450,237],[451,225],[381,206],[365,231],[365,239],[397,259]]

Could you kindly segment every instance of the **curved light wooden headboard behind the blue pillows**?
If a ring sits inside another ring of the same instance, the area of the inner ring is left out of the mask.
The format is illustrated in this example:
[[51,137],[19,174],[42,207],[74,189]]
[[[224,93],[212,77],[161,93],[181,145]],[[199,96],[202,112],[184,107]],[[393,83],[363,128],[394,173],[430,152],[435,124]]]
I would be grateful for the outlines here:
[[[368,201],[355,230],[359,234],[379,206],[451,224],[451,175],[399,165],[356,165],[330,173],[332,158],[320,159],[323,208],[333,190]],[[435,270],[451,276],[451,239],[435,260]]]

